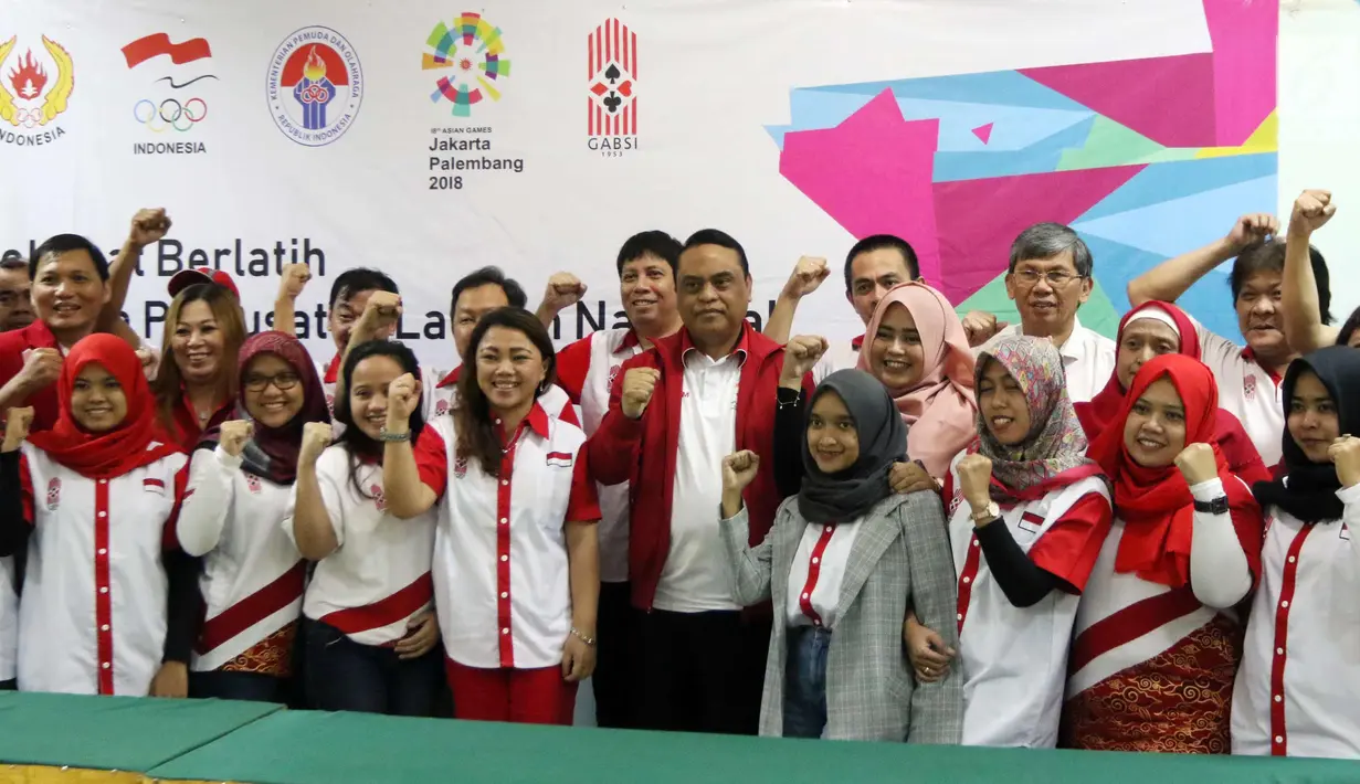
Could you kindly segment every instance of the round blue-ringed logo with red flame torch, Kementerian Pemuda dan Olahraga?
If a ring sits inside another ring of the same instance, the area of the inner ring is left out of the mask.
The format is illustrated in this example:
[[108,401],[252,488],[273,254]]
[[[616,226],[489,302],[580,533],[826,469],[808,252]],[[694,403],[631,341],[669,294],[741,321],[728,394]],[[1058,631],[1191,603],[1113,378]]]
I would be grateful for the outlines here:
[[269,60],[267,96],[275,125],[288,139],[307,147],[330,144],[359,114],[359,54],[329,27],[303,27]]

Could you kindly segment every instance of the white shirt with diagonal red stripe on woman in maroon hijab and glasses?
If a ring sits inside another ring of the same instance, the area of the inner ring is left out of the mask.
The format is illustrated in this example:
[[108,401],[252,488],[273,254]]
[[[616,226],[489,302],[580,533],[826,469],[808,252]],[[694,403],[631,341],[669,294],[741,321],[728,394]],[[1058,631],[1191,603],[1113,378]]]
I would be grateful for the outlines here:
[[190,556],[205,556],[207,605],[189,669],[216,670],[298,620],[306,561],[280,526],[291,489],[242,470],[241,458],[199,450],[177,527]]

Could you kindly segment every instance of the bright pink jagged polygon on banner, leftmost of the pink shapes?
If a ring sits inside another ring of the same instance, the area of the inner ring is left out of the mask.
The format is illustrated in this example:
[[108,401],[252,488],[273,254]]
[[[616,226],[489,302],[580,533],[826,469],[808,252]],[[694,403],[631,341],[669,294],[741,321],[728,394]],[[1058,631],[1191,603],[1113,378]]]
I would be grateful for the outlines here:
[[921,274],[940,280],[934,154],[938,120],[907,122],[884,90],[835,128],[783,137],[779,174],[857,239],[895,234],[915,249]]

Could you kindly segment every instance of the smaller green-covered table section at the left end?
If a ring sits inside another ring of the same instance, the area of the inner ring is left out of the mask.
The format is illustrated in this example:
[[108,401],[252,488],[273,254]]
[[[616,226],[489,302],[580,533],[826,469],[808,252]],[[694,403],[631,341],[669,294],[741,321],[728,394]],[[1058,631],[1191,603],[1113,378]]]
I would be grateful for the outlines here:
[[0,761],[146,773],[277,709],[220,700],[0,692]]

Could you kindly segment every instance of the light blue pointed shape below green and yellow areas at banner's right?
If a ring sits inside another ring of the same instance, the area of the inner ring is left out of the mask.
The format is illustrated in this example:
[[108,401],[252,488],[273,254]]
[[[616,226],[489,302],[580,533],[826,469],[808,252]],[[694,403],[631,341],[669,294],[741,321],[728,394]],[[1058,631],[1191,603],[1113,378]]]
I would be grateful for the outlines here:
[[1081,216],[1072,228],[1172,257],[1219,239],[1243,213],[1272,212],[1276,201],[1276,178],[1270,175],[1095,220]]

